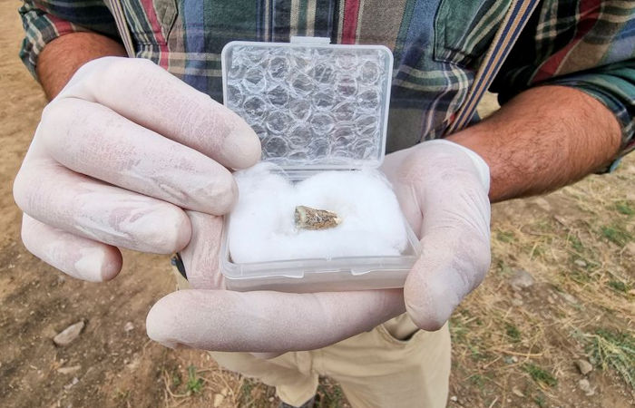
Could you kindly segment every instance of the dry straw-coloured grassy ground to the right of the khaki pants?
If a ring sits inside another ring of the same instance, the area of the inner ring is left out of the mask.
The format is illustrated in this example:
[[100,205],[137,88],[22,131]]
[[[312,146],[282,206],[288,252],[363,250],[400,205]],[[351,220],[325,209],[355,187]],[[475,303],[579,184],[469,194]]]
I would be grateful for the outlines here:
[[[616,174],[494,206],[493,267],[452,319],[454,383],[470,384],[456,393],[486,406],[576,405],[584,394],[567,389],[586,358],[607,372],[591,379],[599,391],[624,393],[624,406],[633,398],[635,160],[624,161]],[[514,291],[516,269],[536,283]],[[620,384],[605,384],[611,370]]]

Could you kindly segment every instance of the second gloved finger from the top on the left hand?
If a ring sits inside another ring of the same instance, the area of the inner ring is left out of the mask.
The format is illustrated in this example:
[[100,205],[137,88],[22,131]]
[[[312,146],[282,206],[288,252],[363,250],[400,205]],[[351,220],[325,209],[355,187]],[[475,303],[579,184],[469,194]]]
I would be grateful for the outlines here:
[[224,214],[237,197],[230,171],[219,163],[98,103],[52,102],[36,141],[71,170],[182,208]]

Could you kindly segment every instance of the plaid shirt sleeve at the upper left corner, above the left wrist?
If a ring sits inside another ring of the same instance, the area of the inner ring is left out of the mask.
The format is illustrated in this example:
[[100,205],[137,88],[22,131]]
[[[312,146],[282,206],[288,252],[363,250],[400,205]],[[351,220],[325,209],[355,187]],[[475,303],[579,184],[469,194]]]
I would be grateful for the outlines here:
[[24,0],[22,17],[24,40],[20,58],[34,75],[37,57],[55,38],[77,32],[93,32],[119,40],[117,26],[103,0]]

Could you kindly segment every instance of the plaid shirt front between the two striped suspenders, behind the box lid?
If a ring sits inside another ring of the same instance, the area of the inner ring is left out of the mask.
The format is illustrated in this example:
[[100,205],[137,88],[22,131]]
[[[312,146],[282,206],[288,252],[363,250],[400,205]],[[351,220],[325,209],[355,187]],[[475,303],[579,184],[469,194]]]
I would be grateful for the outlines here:
[[[233,40],[382,44],[394,55],[388,151],[438,137],[474,78],[509,0],[138,0],[122,2],[138,57],[221,99],[220,52]],[[398,128],[395,124],[398,123]]]

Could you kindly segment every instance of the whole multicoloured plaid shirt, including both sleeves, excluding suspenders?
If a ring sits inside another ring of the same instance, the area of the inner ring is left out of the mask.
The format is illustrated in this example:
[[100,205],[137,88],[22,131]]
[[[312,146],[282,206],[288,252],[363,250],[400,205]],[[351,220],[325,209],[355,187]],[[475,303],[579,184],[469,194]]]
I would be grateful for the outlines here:
[[[220,100],[220,51],[232,40],[384,44],[395,56],[388,151],[443,135],[464,102],[511,0],[122,0],[136,56]],[[21,57],[35,73],[54,38],[117,38],[103,0],[24,0]],[[620,155],[635,148],[635,2],[543,0],[491,91],[501,102],[541,84],[587,92],[615,113]]]

